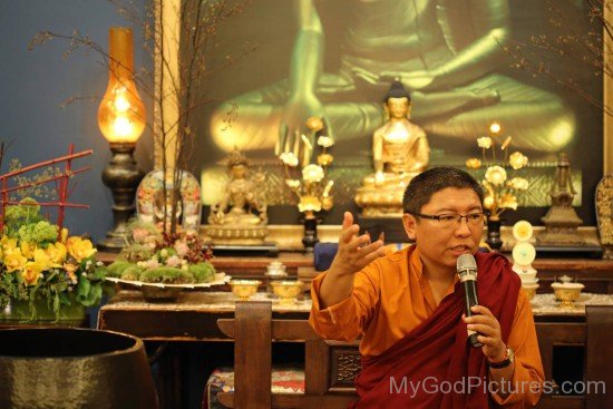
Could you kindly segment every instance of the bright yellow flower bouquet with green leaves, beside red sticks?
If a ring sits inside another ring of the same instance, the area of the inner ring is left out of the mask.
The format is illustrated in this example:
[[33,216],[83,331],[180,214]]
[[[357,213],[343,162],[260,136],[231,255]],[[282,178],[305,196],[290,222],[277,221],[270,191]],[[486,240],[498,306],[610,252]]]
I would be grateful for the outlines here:
[[4,212],[0,238],[0,310],[10,302],[29,304],[28,321],[37,320],[46,301],[56,321],[64,309],[97,305],[106,269],[94,257],[91,241],[69,236],[40,215],[30,198]]

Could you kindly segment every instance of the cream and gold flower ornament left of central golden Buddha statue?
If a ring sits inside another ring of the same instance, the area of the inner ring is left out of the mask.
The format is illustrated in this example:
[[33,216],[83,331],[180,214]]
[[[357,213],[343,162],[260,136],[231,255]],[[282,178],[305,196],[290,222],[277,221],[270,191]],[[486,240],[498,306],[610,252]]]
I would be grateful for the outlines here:
[[[328,153],[328,148],[334,145],[334,140],[324,135],[319,135],[323,129],[323,120],[319,117],[310,117],[306,120],[309,136],[301,135],[303,144],[302,169],[299,169],[300,160],[292,152],[283,153],[279,158],[285,167],[285,184],[298,196],[298,210],[312,216],[313,213],[332,208],[334,201],[330,195],[334,182],[328,176],[328,168],[334,157]],[[317,156],[317,163],[311,163],[313,143],[321,152]]]

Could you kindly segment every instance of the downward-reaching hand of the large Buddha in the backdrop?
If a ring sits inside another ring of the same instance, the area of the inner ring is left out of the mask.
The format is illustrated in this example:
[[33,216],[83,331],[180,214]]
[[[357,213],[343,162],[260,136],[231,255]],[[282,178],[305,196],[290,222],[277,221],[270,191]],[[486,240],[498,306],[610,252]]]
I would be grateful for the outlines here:
[[[310,132],[305,125],[310,117],[320,117],[327,126],[328,136],[334,137],[325,108],[314,95],[291,97],[283,107],[281,116],[279,138],[274,148],[276,156],[293,153],[302,165],[310,162],[317,143],[314,133]],[[302,135],[309,138],[310,148],[302,140]]]

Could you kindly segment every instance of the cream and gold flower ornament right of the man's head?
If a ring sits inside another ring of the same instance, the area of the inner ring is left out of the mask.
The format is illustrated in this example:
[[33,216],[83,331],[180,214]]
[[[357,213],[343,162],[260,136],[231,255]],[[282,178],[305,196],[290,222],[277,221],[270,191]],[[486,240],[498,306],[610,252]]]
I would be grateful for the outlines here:
[[[483,160],[476,157],[466,160],[466,167],[478,169],[486,164],[486,152],[492,152],[492,162],[485,169],[485,176],[481,181],[484,187],[484,207],[489,212],[490,220],[499,220],[500,214],[507,208],[517,210],[517,194],[528,188],[528,181],[523,177],[510,177],[506,167],[514,171],[520,169],[528,163],[528,157],[520,152],[508,154],[512,136],[507,136],[502,143],[498,143],[502,127],[494,123],[489,127],[490,136],[477,138],[477,145],[481,148]],[[496,146],[499,145],[502,162],[497,162]],[[507,163],[508,162],[508,163]]]

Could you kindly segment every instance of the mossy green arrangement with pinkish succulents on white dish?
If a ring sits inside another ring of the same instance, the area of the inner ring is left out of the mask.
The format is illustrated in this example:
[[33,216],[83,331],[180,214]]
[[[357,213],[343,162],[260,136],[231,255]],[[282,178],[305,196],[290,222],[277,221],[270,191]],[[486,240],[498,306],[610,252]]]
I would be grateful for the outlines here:
[[166,284],[215,280],[213,254],[194,232],[162,233],[149,222],[128,226],[129,244],[108,266],[109,275],[128,281]]

